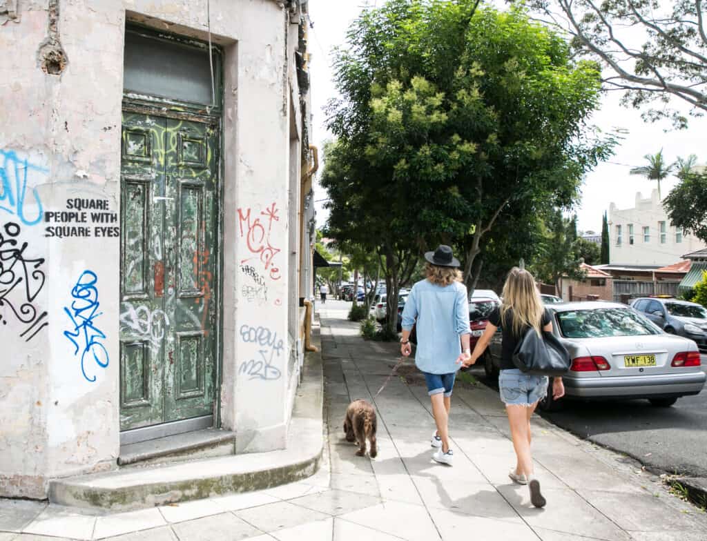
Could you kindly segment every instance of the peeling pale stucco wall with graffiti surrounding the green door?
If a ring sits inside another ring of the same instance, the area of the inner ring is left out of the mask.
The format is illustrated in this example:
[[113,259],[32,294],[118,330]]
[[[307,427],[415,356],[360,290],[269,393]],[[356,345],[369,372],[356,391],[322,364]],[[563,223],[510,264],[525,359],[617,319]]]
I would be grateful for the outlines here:
[[[47,478],[114,468],[119,453],[125,21],[205,38],[206,1],[11,4],[0,13],[0,496],[45,497]],[[276,1],[211,0],[226,52],[221,415],[240,452],[283,446],[288,417],[290,24]],[[47,230],[57,226],[86,229]],[[256,284],[267,302],[247,295]]]

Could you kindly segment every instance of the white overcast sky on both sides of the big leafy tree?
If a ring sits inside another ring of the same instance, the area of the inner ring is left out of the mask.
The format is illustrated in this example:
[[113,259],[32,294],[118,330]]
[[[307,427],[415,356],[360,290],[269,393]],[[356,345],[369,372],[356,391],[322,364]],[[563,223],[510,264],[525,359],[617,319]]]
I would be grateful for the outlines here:
[[[371,0],[370,4],[375,1]],[[382,4],[383,0],[378,0]],[[336,95],[332,82],[331,51],[333,47],[344,44],[346,28],[361,11],[364,0],[310,0],[310,18],[314,28],[310,30],[310,52],[312,52],[312,114],[314,115],[314,142],[322,148],[322,143],[331,138],[325,128],[325,117],[322,107],[330,97]],[[629,169],[644,165],[643,155],[656,153],[661,148],[668,160],[672,162],[677,156],[696,154],[701,164],[707,161],[707,119],[691,119],[690,127],[684,131],[663,130],[670,128],[667,123],[646,124],[641,119],[640,112],[626,109],[619,105],[620,93],[612,92],[604,95],[602,109],[595,114],[594,124],[604,131],[622,128],[629,133],[616,150],[614,157],[601,164],[587,175],[583,189],[582,201],[577,208],[578,229],[600,231],[602,214],[609,210],[609,203],[617,204],[618,208],[634,206],[636,192],[644,197],[650,196],[655,182],[649,182],[643,177],[629,175]],[[677,179],[671,177],[661,183],[662,195],[670,191]],[[322,209],[321,200],[326,193],[318,189],[315,194],[317,203],[317,227],[324,225],[327,213]]]

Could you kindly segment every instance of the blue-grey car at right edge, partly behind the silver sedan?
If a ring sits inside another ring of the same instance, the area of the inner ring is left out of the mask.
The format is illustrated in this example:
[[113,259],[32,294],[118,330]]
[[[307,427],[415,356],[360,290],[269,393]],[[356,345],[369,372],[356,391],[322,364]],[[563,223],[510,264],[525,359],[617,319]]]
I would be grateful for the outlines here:
[[707,310],[696,302],[643,297],[631,302],[650,321],[670,334],[694,340],[703,353],[707,353]]

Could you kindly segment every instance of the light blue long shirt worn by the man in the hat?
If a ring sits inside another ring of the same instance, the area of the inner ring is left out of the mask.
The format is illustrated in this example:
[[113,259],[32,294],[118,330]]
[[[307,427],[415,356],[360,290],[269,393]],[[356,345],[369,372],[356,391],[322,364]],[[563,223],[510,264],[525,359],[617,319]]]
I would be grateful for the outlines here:
[[416,283],[402,311],[402,328],[410,331],[415,323],[417,367],[430,374],[457,371],[460,336],[469,334],[467,288],[459,282],[447,286],[429,280]]

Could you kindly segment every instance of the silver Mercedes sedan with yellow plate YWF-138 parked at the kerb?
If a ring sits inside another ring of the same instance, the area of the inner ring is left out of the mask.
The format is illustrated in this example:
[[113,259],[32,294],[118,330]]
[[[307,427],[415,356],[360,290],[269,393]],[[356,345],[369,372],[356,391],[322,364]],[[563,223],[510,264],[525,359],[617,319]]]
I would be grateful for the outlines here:
[[[572,358],[563,376],[566,398],[647,398],[667,407],[702,390],[707,376],[694,341],[665,333],[638,311],[617,302],[568,302],[549,309],[553,333]],[[498,374],[501,333],[493,336],[489,350],[484,368]],[[549,386],[540,408],[559,409],[562,401],[552,398],[551,379]]]

